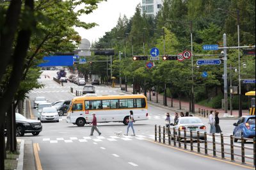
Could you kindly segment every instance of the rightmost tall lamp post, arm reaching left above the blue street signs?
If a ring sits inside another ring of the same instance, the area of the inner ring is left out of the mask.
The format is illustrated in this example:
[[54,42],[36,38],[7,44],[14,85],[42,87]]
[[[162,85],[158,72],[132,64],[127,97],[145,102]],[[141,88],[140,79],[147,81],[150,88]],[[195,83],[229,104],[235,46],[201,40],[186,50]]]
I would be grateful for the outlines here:
[[[240,20],[240,12],[236,10],[236,12],[223,10],[222,8],[218,8],[218,10],[236,14],[237,18],[237,45],[240,47],[240,27],[239,27],[239,20]],[[241,101],[241,60],[240,60],[240,49],[238,48],[238,86],[239,86],[239,117],[242,116],[242,101]]]

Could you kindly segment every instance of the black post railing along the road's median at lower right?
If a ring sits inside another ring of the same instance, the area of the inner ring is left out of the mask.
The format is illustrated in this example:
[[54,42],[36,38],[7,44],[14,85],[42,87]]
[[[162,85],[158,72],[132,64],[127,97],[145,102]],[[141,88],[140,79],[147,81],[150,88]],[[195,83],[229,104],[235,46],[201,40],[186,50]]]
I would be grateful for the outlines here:
[[[212,140],[208,140],[207,138],[209,137],[211,137]],[[216,141],[216,137],[220,137],[220,142]],[[226,139],[229,138],[230,143],[224,143],[224,137],[226,137]],[[241,140],[241,146],[234,144],[234,139]],[[196,144],[194,144],[194,141],[196,141]],[[253,148],[244,146],[246,141],[253,142]],[[255,137],[249,139],[244,137],[234,137],[233,135],[207,134],[207,132],[187,131],[186,129],[180,130],[161,126],[157,127],[157,125],[155,125],[155,142],[184,148],[184,150],[196,151],[197,153],[204,153],[204,155],[212,154],[212,157],[220,156],[222,159],[226,158],[225,155],[230,155],[230,161],[232,162],[235,162],[234,156],[240,157],[241,164],[250,164],[249,162],[245,162],[245,158],[247,158],[253,160],[252,165],[255,167]],[[204,146],[202,146],[201,143],[204,143]],[[212,148],[209,148],[209,143],[212,144]],[[220,149],[216,146],[220,146]],[[225,146],[228,146],[228,148],[225,148]],[[237,150],[235,153],[235,148],[239,148],[240,150],[238,152],[241,154],[237,153]],[[209,151],[211,151],[211,153],[209,153]],[[253,157],[246,155],[246,151],[252,151]]]

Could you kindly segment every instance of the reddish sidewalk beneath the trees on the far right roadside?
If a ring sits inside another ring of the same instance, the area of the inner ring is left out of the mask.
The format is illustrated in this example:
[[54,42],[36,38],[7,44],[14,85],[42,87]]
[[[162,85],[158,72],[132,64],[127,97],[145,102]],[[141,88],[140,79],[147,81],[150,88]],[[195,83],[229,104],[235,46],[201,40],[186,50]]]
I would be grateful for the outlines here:
[[[122,87],[124,87],[124,84],[122,84]],[[127,88],[127,92],[125,93],[129,93],[129,94],[132,94],[132,91],[133,89],[131,87],[128,87]],[[141,93],[143,94],[143,93]],[[149,98],[149,92],[147,93],[147,99],[148,99],[148,103],[151,103],[151,104],[154,104],[154,105],[158,105],[158,106],[161,106],[161,107],[167,107],[169,108],[170,110],[174,111],[174,112],[187,112],[189,111],[189,102],[186,102],[186,101],[180,101],[181,103],[181,110],[179,109],[179,100],[176,99],[176,98],[173,98],[173,107],[171,107],[171,102],[172,102],[172,99],[167,97],[167,105],[168,106],[164,106],[163,105],[163,95],[159,95],[158,94],[158,103],[156,102],[157,101],[157,98],[156,98],[156,95],[153,96],[152,95],[152,92],[151,92],[151,100]],[[195,113],[198,114],[198,109],[205,109],[205,114],[206,114],[206,111],[208,110],[209,111],[209,114],[210,114],[210,111],[218,111],[220,112],[219,116],[220,118],[226,118],[226,115],[225,114],[225,111],[223,109],[213,109],[211,107],[205,107],[204,105],[198,105],[198,104],[195,104]],[[228,114],[230,115],[230,111],[228,111]],[[234,118],[238,118],[239,117],[239,111],[238,110],[233,110],[232,111],[232,115],[234,116]],[[248,115],[248,111],[247,110],[243,110],[243,116],[244,115]],[[199,116],[199,115],[198,115]],[[232,119],[232,118],[230,118]]]

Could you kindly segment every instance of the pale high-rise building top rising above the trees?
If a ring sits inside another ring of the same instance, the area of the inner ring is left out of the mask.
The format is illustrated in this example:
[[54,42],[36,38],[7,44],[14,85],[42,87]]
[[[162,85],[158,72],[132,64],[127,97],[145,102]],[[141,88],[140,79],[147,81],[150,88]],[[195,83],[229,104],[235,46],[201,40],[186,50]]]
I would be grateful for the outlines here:
[[162,6],[163,0],[142,0],[142,11],[150,17],[156,16]]

